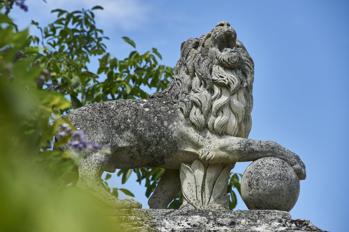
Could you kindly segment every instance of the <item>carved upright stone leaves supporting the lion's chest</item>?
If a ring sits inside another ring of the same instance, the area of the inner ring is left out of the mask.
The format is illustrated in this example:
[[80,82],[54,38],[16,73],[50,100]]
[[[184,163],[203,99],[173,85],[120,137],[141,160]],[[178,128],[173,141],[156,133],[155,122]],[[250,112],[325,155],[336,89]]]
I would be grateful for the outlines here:
[[227,194],[228,180],[232,165],[207,164],[195,160],[191,165],[181,164],[183,205],[180,209],[229,210]]

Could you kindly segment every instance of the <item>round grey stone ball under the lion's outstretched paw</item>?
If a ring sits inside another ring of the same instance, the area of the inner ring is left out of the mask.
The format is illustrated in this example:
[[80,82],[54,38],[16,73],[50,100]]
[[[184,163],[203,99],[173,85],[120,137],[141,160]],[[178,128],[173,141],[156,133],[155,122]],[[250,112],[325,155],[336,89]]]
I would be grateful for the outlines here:
[[290,165],[275,157],[253,161],[241,179],[241,195],[248,209],[289,212],[299,195],[299,179]]

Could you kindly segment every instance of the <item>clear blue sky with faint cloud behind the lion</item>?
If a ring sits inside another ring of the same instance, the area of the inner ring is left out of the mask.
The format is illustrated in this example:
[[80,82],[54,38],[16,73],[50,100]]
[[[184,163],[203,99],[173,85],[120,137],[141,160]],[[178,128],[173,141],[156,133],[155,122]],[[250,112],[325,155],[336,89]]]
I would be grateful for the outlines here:
[[[101,5],[97,27],[108,52],[122,59],[132,51],[121,37],[133,39],[139,52],[152,47],[160,62],[174,66],[180,44],[228,21],[255,63],[251,139],[273,140],[300,156],[307,178],[290,211],[327,231],[346,231],[348,198],[348,1],[26,1],[10,16],[25,28],[54,20],[55,8],[78,10]],[[37,33],[34,28],[31,33]],[[97,71],[91,63],[90,70]],[[151,92],[151,91],[150,91]],[[243,173],[248,163],[238,163]],[[135,179],[134,177],[131,177]],[[110,185],[131,190],[147,208],[145,188],[112,178]],[[236,209],[247,209],[241,199]]]

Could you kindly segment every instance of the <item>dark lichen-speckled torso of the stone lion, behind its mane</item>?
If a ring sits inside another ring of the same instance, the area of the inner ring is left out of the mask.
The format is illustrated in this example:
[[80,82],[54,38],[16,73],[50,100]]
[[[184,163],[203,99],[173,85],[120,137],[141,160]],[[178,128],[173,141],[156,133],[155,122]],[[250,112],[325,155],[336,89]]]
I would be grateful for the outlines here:
[[[190,122],[181,116],[175,103],[164,100],[101,102],[73,110],[65,117],[76,129],[85,132],[87,140],[112,152],[105,171],[140,167],[178,169],[182,162],[199,158],[199,150],[190,150],[188,146],[186,134],[190,133]],[[69,145],[62,149],[76,156],[80,154]]]

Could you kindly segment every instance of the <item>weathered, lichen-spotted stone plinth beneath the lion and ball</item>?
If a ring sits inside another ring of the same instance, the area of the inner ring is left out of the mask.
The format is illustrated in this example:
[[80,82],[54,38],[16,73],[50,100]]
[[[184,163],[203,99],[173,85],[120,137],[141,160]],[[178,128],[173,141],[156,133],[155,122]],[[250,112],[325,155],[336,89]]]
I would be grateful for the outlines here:
[[307,220],[278,210],[107,210],[116,231],[323,231]]

